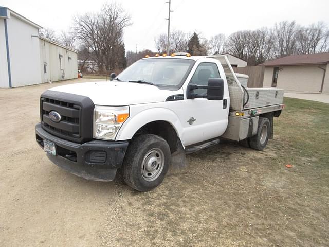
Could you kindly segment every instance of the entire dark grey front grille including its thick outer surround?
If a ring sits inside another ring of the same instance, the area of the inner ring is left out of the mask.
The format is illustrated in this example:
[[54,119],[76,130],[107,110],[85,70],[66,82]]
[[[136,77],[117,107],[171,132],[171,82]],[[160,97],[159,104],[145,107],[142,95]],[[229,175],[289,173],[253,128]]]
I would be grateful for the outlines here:
[[[49,118],[55,111],[59,122]],[[94,103],[88,97],[47,90],[40,98],[42,128],[60,138],[82,143],[93,138]]]

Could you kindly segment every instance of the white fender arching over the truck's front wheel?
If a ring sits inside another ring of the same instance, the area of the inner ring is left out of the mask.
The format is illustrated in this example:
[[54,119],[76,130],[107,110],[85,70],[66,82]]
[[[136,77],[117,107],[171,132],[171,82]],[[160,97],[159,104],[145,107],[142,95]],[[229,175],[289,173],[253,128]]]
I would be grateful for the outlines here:
[[[149,108],[143,111],[131,109],[131,116],[121,126],[115,140],[130,140],[134,134],[144,125],[153,121],[169,122],[176,131],[177,136],[181,139],[182,125],[178,116],[168,108]],[[133,112],[137,113],[134,114]]]

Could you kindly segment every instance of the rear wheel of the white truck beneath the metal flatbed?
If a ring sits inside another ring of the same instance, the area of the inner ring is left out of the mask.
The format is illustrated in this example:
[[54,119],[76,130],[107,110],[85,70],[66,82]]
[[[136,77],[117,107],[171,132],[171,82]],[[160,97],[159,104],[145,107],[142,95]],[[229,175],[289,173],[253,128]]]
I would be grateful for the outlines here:
[[250,148],[263,150],[266,147],[270,135],[271,125],[266,117],[260,117],[258,120],[257,134],[248,138]]

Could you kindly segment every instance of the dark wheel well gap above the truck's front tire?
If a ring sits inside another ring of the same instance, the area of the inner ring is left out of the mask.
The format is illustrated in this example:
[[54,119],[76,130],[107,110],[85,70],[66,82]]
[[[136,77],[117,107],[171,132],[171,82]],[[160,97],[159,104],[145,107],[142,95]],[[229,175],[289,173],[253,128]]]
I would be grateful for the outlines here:
[[165,139],[170,147],[170,152],[177,150],[178,136],[174,127],[166,121],[149,122],[141,127],[133,136],[133,138],[142,134],[154,134]]

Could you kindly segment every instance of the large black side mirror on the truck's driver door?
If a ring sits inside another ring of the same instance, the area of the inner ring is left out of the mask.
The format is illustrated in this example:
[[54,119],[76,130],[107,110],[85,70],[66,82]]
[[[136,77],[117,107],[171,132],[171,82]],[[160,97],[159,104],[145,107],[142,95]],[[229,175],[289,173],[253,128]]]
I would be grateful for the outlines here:
[[[207,95],[198,95],[194,93],[195,89],[206,89]],[[207,86],[189,84],[187,87],[187,98],[206,98],[209,100],[223,100],[224,80],[222,78],[209,78]]]

